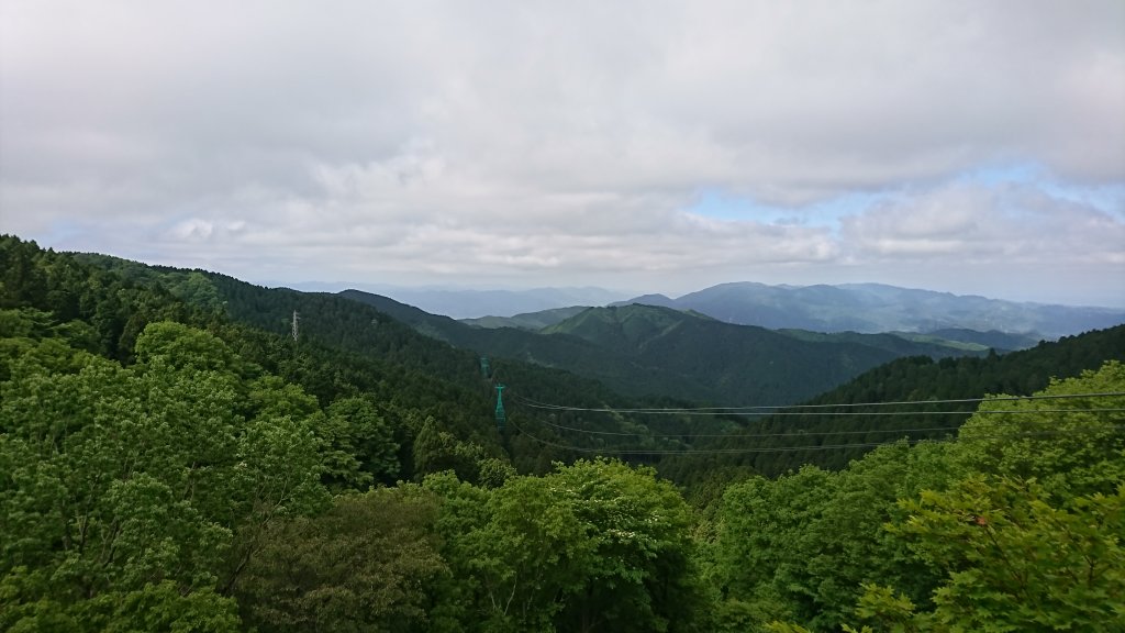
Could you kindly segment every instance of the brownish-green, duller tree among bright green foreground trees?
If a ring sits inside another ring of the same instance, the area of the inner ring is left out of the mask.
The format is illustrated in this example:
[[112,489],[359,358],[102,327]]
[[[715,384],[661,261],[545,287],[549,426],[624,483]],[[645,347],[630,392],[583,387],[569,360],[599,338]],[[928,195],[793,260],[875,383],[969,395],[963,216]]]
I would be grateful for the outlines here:
[[449,576],[435,512],[433,494],[407,484],[273,527],[236,588],[246,619],[262,632],[430,631],[431,595]]

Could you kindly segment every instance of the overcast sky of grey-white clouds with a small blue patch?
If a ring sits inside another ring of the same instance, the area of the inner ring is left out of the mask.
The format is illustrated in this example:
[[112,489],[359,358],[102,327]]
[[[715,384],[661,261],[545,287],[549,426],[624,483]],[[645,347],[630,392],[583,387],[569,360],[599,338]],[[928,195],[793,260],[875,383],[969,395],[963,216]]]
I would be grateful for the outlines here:
[[1122,306],[1123,113],[1120,0],[0,0],[0,232],[256,283]]

